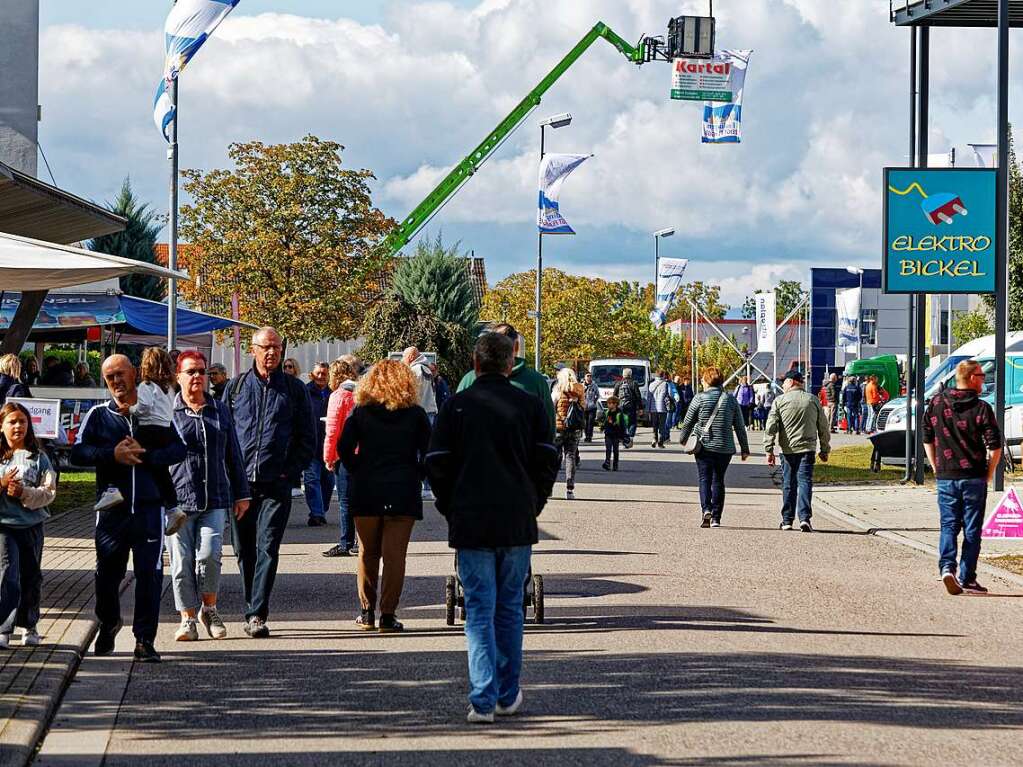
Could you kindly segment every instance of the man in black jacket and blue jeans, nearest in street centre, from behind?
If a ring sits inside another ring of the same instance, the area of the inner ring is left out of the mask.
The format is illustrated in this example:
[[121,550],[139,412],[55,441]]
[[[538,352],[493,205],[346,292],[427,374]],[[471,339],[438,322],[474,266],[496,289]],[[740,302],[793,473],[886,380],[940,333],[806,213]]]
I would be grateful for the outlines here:
[[471,723],[522,705],[523,588],[558,476],[543,404],[508,380],[514,354],[506,336],[480,336],[476,382],[445,403],[427,453],[465,592]]

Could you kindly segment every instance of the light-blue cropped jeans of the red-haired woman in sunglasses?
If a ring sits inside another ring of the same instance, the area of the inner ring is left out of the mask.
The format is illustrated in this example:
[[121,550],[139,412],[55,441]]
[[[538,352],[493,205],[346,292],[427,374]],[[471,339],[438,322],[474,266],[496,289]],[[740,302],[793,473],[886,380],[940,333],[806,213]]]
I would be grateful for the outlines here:
[[203,594],[217,595],[226,524],[227,509],[211,508],[189,514],[167,539],[174,608],[179,613],[199,607]]

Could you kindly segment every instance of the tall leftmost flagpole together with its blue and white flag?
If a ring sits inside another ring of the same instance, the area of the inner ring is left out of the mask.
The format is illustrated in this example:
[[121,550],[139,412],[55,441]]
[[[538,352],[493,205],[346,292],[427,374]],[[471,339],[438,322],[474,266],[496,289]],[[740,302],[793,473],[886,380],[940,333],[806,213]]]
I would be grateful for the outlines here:
[[[174,0],[174,7],[164,24],[164,77],[157,87],[152,119],[170,145],[167,150],[167,159],[171,163],[167,266],[172,271],[178,267],[178,76],[238,2],[239,0]],[[169,350],[177,344],[177,305],[178,283],[172,278],[167,290]]]

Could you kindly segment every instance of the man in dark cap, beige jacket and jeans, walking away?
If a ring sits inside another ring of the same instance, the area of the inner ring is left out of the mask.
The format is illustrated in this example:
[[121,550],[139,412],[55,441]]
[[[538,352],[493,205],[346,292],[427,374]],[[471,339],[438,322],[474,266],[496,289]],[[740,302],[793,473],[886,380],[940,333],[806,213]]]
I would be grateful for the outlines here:
[[775,442],[782,452],[782,530],[792,530],[798,513],[799,529],[812,533],[814,456],[819,442],[820,460],[827,462],[831,453],[831,424],[820,401],[803,388],[803,380],[799,370],[786,373],[785,393],[774,400],[767,414],[764,450],[768,466],[777,462]]

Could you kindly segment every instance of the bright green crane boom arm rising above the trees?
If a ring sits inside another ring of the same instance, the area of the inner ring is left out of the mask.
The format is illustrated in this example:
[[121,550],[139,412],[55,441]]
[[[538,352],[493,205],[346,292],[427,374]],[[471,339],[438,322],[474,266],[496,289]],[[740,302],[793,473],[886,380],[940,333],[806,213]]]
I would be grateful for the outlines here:
[[540,103],[543,94],[552,86],[565,72],[574,64],[586,49],[596,40],[605,39],[617,48],[629,61],[641,64],[644,61],[643,44],[631,45],[619,37],[604,21],[597,21],[593,29],[576,43],[575,47],[568,52],[558,64],[547,73],[546,77],[533,88],[529,94],[519,102],[519,104],[508,112],[497,127],[483,139],[483,142],[437,185],[437,187],[427,195],[419,205],[415,207],[398,226],[394,228],[388,236],[385,247],[391,256],[397,254],[402,247],[426,226],[427,222],[454,195],[455,192],[475,174],[487,159],[500,146],[501,142],[507,138],[516,128],[526,119],[530,111]]

